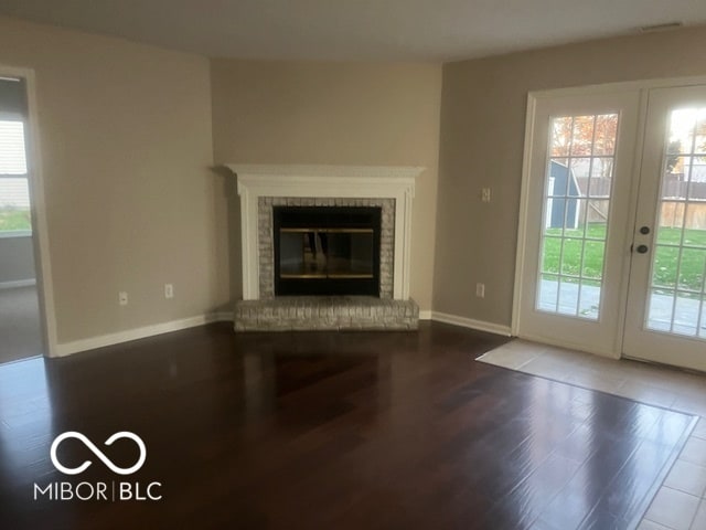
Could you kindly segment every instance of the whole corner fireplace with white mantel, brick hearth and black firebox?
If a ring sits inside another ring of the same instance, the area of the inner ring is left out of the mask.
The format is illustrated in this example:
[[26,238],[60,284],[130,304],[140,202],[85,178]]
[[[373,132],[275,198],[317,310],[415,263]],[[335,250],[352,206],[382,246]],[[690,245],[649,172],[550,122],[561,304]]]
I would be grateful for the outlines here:
[[411,202],[424,168],[228,168],[240,197],[237,331],[417,329]]

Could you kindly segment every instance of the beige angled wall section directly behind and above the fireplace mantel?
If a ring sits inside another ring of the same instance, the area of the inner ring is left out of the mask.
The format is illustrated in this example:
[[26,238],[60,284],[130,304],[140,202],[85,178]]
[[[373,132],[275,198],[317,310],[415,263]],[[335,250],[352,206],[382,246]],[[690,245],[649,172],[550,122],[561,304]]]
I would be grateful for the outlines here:
[[[214,60],[212,88],[216,162],[427,168],[414,201],[410,294],[430,309],[441,66]],[[237,298],[239,240],[232,243]]]

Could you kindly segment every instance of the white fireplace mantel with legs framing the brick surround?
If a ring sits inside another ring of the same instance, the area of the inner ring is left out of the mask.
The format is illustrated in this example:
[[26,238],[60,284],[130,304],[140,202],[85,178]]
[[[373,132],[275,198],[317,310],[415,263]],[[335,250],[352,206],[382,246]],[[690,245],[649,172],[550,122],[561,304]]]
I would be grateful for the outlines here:
[[226,165],[240,195],[243,298],[259,294],[258,201],[260,197],[395,200],[393,297],[409,298],[409,247],[415,179],[425,168],[389,166]]

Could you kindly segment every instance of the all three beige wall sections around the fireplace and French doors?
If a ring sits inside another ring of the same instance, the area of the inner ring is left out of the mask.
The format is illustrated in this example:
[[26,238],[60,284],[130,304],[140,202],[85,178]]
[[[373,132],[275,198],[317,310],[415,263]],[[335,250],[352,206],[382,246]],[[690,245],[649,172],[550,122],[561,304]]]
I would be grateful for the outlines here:
[[58,340],[203,315],[240,296],[233,180],[208,170],[214,159],[425,166],[411,296],[421,309],[509,325],[527,92],[705,75],[704,49],[706,29],[688,29],[443,73],[236,60],[210,70],[196,55],[0,18],[0,65],[36,76]]

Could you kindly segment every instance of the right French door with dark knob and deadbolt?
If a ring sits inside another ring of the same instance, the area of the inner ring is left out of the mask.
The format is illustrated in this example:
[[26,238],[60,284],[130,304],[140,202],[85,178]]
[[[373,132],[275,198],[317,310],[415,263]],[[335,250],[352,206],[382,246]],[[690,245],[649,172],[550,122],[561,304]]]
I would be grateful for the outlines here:
[[652,89],[623,353],[706,371],[706,86]]

